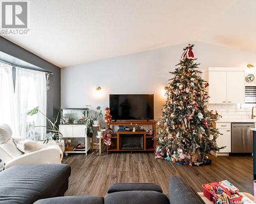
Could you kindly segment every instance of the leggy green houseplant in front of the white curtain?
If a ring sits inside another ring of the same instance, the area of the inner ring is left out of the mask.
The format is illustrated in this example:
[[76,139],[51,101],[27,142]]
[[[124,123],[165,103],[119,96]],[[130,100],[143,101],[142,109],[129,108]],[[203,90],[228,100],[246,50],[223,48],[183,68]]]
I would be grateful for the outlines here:
[[48,143],[50,140],[55,140],[56,142],[61,142],[61,139],[62,139],[62,134],[59,132],[59,129],[58,127],[56,126],[56,123],[57,123],[57,120],[58,120],[58,117],[59,117],[59,113],[60,113],[60,110],[58,112],[58,115],[57,115],[57,118],[56,120],[54,120],[54,122],[52,122],[44,113],[42,113],[40,110],[39,110],[39,107],[35,107],[34,109],[30,110],[27,112],[27,115],[35,115],[37,113],[41,113],[42,115],[44,115],[47,119],[47,122],[50,126],[44,126],[44,125],[39,125],[39,126],[35,126],[35,127],[46,127],[47,129],[47,134],[45,135],[45,140],[44,140],[44,143]]

